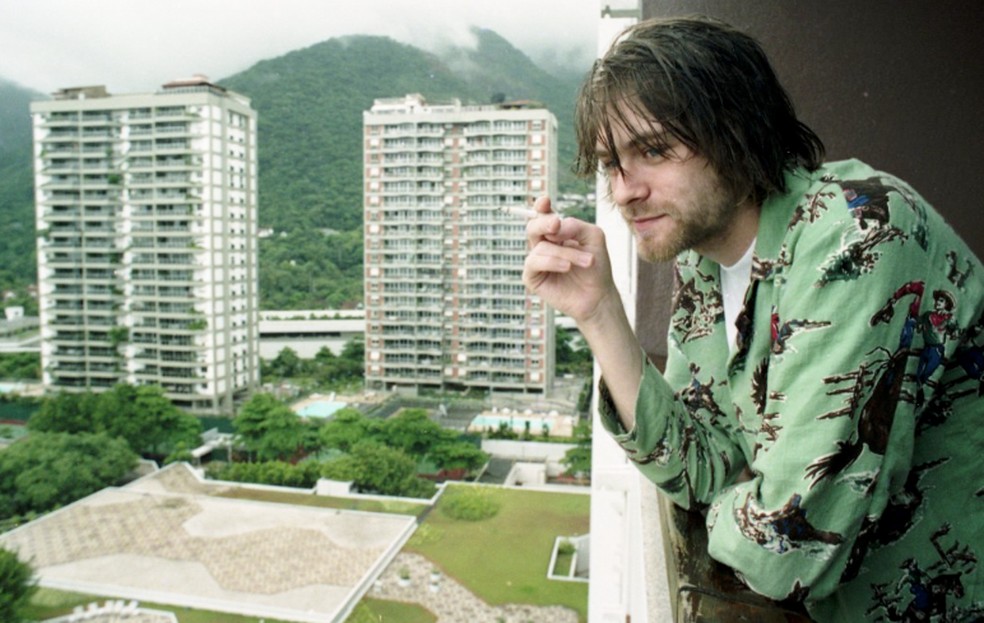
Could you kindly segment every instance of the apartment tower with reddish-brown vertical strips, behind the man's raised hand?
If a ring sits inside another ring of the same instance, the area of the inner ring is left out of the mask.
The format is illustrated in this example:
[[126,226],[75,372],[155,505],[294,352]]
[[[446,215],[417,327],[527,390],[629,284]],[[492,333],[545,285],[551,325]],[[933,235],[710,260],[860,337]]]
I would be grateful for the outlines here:
[[557,121],[533,103],[376,100],[363,113],[366,386],[543,393],[553,311],[522,283],[556,195]]

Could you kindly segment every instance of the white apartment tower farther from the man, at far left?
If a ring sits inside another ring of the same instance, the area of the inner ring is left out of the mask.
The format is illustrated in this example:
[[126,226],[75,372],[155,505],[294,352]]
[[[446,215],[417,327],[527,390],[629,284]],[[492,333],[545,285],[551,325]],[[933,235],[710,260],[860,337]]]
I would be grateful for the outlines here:
[[45,388],[156,384],[231,414],[259,377],[249,100],[196,77],[31,114]]

